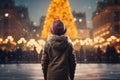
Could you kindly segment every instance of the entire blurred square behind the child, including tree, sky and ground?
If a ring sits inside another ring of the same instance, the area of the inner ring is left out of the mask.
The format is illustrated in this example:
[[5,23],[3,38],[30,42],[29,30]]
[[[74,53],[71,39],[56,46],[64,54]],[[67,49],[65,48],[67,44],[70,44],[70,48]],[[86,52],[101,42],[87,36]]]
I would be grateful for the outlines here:
[[0,0],[0,80],[44,79],[55,20],[73,48],[74,80],[120,80],[120,0]]

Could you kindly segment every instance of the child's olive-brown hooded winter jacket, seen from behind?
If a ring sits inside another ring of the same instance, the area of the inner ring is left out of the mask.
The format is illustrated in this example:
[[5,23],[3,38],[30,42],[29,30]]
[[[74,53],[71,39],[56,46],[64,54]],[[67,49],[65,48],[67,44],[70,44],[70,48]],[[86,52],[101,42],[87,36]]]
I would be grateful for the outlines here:
[[47,80],[69,80],[74,78],[75,57],[66,36],[48,37],[42,53],[42,70]]

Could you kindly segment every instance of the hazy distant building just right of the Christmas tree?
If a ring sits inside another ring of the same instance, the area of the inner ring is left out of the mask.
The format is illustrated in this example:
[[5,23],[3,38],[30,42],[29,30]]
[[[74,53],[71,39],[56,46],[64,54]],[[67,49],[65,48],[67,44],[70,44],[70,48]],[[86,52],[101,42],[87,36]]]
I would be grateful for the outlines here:
[[[78,35],[80,39],[86,39],[90,37],[90,30],[87,28],[85,13],[76,13],[73,11],[74,21],[78,29]],[[85,35],[83,35],[85,34]]]

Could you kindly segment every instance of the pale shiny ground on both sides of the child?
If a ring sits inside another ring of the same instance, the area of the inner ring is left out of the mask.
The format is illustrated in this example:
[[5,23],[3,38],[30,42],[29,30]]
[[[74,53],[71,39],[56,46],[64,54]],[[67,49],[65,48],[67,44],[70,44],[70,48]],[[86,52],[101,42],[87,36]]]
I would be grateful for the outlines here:
[[[40,64],[0,64],[0,80],[43,80]],[[75,80],[120,80],[120,64],[77,64]]]

